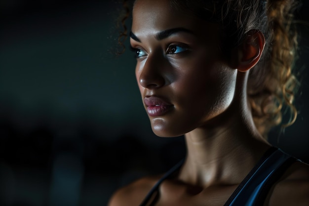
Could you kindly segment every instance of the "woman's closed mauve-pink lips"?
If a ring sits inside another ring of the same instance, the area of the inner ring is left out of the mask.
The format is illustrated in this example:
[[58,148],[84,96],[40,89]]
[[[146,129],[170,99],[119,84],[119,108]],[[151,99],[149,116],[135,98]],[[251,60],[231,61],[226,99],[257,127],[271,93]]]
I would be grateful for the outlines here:
[[163,116],[173,108],[172,104],[154,96],[145,97],[144,103],[147,107],[148,115],[152,117]]

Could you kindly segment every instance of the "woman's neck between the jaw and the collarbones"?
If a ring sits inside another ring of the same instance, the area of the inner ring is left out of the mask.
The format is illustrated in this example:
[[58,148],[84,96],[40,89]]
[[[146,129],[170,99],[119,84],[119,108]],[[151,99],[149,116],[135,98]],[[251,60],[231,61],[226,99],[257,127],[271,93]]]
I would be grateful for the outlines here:
[[202,187],[239,184],[270,148],[257,131],[247,105],[238,102],[212,123],[185,135],[187,157],[179,174],[182,181]]

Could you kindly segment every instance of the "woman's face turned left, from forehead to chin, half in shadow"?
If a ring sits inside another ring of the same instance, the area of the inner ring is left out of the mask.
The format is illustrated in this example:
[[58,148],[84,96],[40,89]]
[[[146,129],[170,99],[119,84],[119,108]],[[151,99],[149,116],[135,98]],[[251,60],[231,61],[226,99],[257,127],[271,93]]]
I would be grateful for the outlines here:
[[218,25],[173,9],[169,0],[137,0],[130,36],[156,135],[183,135],[229,107],[236,69],[221,55]]

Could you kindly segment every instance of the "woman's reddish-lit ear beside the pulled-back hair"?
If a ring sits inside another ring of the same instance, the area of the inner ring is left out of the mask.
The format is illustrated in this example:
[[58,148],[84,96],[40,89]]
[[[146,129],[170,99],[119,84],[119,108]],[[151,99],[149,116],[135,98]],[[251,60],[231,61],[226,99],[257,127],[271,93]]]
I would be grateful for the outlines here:
[[259,30],[250,30],[246,33],[244,41],[235,48],[237,52],[236,68],[240,72],[246,72],[254,67],[260,60],[265,47],[265,37]]

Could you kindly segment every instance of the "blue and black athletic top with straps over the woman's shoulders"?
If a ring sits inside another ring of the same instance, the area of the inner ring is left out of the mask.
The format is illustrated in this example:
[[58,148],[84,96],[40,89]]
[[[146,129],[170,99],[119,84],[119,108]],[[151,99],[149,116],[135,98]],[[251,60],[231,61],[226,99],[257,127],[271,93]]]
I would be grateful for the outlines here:
[[[238,185],[224,206],[263,205],[273,183],[275,183],[295,161],[297,161],[295,158],[284,153],[282,150],[271,147]],[[184,160],[180,161],[166,172],[164,176],[156,182],[140,206],[146,206],[154,192],[158,191],[160,184],[165,179],[172,176],[183,163]],[[151,205],[153,206],[156,201],[157,198],[154,198]]]

